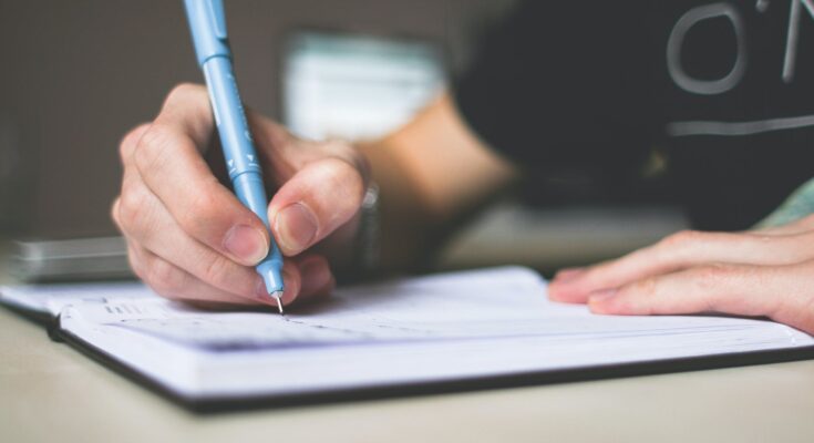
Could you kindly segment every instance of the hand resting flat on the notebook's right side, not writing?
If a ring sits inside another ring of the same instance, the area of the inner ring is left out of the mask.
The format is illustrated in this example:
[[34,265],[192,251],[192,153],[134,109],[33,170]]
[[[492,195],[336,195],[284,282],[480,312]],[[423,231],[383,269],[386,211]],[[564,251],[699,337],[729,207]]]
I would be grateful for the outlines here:
[[597,313],[721,312],[814,333],[814,216],[738,234],[678,233],[616,260],[561,270],[548,295]]

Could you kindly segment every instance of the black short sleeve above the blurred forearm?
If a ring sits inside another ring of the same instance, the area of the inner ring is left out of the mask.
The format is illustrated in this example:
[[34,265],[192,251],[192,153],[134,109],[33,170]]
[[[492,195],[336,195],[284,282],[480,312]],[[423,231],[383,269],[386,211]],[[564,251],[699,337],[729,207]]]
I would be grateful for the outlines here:
[[[659,131],[648,1],[527,1],[480,41],[458,111],[527,176],[638,174]],[[621,179],[620,179],[621,178]]]

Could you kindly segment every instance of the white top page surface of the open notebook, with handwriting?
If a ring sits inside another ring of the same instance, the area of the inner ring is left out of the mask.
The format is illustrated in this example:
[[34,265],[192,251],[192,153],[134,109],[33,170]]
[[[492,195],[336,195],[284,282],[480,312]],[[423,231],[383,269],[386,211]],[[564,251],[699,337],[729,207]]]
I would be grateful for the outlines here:
[[[488,285],[484,286],[483,282]],[[92,321],[209,351],[473,339],[639,337],[749,327],[738,319],[597,317],[547,301],[538,277],[503,270],[340,290],[286,317],[202,312],[166,300],[123,300]],[[495,300],[497,298],[497,300]]]

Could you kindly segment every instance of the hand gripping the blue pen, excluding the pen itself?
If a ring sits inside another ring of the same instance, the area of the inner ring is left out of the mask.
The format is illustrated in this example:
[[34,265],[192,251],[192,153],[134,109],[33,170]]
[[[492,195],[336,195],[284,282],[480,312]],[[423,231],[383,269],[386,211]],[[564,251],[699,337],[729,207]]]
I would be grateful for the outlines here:
[[[315,253],[313,246],[329,236],[338,244],[352,236],[367,162],[348,144],[298,140],[270,120],[247,114],[274,195],[272,235],[286,257],[282,301],[327,296],[336,280],[323,250]],[[175,87],[155,121],[121,143],[124,176],[113,219],[127,240],[134,272],[159,295],[275,305],[254,269],[268,253],[269,235],[218,181],[217,165],[205,161],[207,151],[220,151],[216,138],[206,89]]]

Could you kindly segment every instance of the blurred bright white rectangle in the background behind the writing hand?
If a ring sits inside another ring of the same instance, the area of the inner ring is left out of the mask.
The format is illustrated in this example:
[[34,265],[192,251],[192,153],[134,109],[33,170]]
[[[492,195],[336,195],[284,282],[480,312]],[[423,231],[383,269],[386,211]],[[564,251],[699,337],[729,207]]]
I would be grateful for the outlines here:
[[423,41],[302,32],[285,56],[285,123],[309,138],[384,135],[444,84],[441,51]]

